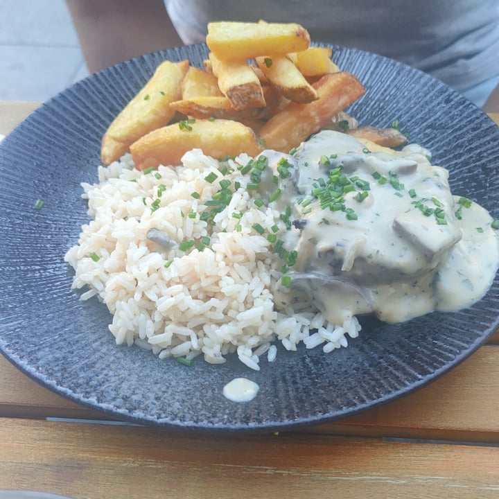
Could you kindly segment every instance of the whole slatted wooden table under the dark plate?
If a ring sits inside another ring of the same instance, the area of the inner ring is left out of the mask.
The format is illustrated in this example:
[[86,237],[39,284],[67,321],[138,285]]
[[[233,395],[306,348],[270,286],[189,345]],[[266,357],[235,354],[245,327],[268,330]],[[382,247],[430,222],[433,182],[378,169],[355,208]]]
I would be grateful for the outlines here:
[[[35,107],[0,103],[0,133]],[[243,436],[102,421],[0,356],[0,489],[75,499],[498,498],[498,344],[496,332],[434,383],[356,417]]]

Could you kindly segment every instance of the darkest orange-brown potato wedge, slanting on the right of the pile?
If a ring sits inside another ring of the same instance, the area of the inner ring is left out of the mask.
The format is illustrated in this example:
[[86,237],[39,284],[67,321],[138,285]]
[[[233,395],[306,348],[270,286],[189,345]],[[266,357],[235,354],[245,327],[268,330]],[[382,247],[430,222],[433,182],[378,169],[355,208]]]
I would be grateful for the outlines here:
[[313,86],[319,94],[317,100],[290,103],[265,123],[260,131],[265,148],[288,152],[365,93],[362,83],[346,72],[322,76]]

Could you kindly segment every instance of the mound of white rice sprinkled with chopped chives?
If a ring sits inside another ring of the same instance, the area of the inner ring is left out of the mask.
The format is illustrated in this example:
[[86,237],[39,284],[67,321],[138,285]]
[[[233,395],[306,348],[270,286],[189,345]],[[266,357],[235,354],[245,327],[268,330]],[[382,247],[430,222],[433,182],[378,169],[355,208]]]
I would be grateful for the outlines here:
[[[280,279],[282,261],[266,235],[274,234],[275,225],[277,236],[286,228],[273,203],[254,205],[253,191],[245,189],[249,176],[237,169],[247,161],[246,155],[229,160],[234,171],[224,176],[218,161],[193,150],[182,166],[142,173],[125,155],[98,168],[99,184],[82,184],[92,220],[65,261],[76,271],[73,288],[88,288],[81,298],[96,296],[113,314],[109,329],[117,344],[136,344],[159,358],[202,354],[212,364],[236,353],[259,370],[265,353],[268,362],[275,360],[276,341],[289,351],[303,342],[330,352],[346,347],[347,336],[358,335],[355,317],[329,324],[308,303],[276,310],[272,285]],[[215,182],[205,180],[210,173],[218,176]],[[210,211],[204,203],[222,179],[231,186],[239,182],[240,189],[210,225],[200,216]],[[256,223],[262,235],[253,228]],[[165,249],[148,240],[153,228],[173,245]],[[209,244],[198,250],[203,237]],[[183,240],[195,245],[181,251]]]

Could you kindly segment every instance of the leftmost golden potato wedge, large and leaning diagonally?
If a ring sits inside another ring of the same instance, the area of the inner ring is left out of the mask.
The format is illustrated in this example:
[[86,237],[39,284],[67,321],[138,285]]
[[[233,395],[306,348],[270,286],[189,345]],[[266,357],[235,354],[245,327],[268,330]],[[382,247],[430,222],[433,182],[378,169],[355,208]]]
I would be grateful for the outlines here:
[[180,98],[182,80],[188,69],[187,60],[159,64],[146,85],[107,128],[100,147],[103,164],[119,159],[132,142],[172,119],[175,110],[170,108],[170,103]]

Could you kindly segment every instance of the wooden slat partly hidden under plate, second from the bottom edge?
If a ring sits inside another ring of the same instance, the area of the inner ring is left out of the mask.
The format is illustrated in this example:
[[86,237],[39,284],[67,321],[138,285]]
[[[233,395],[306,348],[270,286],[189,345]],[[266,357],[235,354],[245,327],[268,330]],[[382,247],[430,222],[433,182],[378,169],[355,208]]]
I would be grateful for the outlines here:
[[[482,347],[408,396],[353,417],[301,429],[323,434],[499,442],[499,349]],[[469,401],[473,401],[473,411]],[[30,380],[0,357],[0,416],[105,419]],[[473,437],[473,438],[471,438]]]

